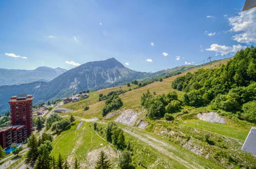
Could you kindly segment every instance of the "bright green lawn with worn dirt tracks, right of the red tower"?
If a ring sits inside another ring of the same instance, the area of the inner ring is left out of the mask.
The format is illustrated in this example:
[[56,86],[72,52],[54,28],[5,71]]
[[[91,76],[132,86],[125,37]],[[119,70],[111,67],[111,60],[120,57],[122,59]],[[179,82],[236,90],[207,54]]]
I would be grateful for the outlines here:
[[75,121],[71,129],[62,132],[53,140],[53,150],[51,155],[56,159],[58,154],[66,158],[77,158],[80,161],[86,159],[87,153],[100,149],[101,144],[107,145],[104,141],[90,128],[89,123],[84,124],[79,130],[76,130],[79,121]]

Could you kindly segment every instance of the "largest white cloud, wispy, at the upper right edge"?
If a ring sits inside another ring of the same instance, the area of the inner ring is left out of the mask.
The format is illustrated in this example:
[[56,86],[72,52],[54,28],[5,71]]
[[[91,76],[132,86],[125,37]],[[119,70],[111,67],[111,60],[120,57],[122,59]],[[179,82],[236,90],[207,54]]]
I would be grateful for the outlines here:
[[256,43],[256,8],[239,12],[228,18],[231,31],[241,32],[233,36],[239,43]]

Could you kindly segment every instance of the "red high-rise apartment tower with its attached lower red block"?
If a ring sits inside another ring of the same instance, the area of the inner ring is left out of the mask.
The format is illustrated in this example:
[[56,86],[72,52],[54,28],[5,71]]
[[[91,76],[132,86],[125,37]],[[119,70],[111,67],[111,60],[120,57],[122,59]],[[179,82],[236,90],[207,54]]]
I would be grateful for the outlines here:
[[0,128],[0,144],[3,148],[12,143],[23,143],[33,131],[32,95],[19,94],[9,101],[11,126]]

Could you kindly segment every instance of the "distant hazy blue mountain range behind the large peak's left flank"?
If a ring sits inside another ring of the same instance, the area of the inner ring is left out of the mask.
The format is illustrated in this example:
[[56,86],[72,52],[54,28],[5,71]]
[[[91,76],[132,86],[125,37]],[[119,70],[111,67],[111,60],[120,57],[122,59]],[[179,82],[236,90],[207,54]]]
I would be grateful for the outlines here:
[[38,67],[35,70],[0,69],[0,86],[50,81],[66,71],[62,68],[53,69],[49,67]]

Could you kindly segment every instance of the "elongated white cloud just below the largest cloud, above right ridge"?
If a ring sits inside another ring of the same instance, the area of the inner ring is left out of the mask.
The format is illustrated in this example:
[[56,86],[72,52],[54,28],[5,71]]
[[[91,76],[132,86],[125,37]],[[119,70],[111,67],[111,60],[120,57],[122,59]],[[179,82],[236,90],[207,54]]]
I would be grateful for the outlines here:
[[233,45],[231,47],[225,45],[212,44],[210,48],[206,49],[207,51],[214,51],[216,55],[225,56],[227,54],[235,53],[238,50],[244,49],[246,46],[242,45]]

